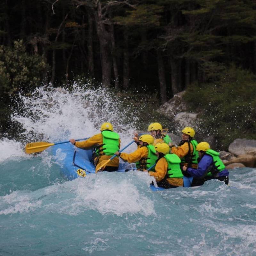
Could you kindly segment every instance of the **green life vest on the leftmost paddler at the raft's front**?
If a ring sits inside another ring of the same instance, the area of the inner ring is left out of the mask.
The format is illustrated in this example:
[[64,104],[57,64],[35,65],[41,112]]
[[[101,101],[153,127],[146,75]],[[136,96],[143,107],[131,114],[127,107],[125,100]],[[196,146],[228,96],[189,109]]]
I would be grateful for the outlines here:
[[101,134],[103,138],[103,144],[97,147],[96,154],[98,156],[99,155],[114,156],[115,152],[119,150],[118,133],[105,130],[105,131],[102,131]]

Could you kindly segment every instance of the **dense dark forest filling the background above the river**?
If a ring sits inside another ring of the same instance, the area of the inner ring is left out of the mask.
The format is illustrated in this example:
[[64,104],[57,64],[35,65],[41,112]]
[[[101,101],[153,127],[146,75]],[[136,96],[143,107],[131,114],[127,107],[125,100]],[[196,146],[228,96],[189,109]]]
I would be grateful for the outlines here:
[[84,77],[159,104],[186,89],[204,118],[212,100],[208,113],[221,112],[224,126],[236,119],[245,137],[255,131],[254,0],[2,0],[0,12],[2,132],[17,92]]

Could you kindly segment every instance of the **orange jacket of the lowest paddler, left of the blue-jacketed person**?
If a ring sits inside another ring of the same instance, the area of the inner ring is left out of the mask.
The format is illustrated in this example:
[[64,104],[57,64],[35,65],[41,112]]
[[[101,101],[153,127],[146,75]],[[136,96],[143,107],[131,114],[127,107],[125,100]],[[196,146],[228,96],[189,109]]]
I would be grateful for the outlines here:
[[[148,172],[149,176],[154,176],[156,182],[159,182],[164,179],[168,169],[168,163],[164,157],[160,158],[156,163],[155,172]],[[166,179],[169,184],[172,186],[183,186],[183,178],[168,178]]]

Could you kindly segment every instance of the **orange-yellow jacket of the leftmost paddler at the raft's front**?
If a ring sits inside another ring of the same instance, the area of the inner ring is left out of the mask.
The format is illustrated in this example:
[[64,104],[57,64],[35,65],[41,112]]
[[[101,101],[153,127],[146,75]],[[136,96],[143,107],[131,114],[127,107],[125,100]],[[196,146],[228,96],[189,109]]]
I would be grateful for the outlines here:
[[[103,144],[103,137],[101,133],[93,135],[91,138],[88,140],[84,141],[76,141],[75,146],[77,148],[84,148],[84,149],[92,149],[95,148],[96,146],[99,146]],[[121,140],[119,139],[119,148],[120,148]],[[101,148],[100,148],[101,149]],[[94,164],[95,166],[100,164],[103,160],[108,160],[112,156],[107,156],[107,155],[100,155],[94,158]],[[119,166],[119,158],[114,157],[108,164],[107,166],[112,166],[112,167],[118,167]]]

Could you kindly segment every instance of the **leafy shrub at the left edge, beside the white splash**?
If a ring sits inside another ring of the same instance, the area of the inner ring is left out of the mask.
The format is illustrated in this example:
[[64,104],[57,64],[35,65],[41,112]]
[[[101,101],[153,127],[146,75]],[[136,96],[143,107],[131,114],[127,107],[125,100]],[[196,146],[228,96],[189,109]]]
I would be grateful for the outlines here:
[[10,120],[10,106],[18,102],[11,97],[41,85],[48,68],[42,56],[28,54],[22,40],[15,41],[13,47],[0,45],[0,135],[17,130]]

